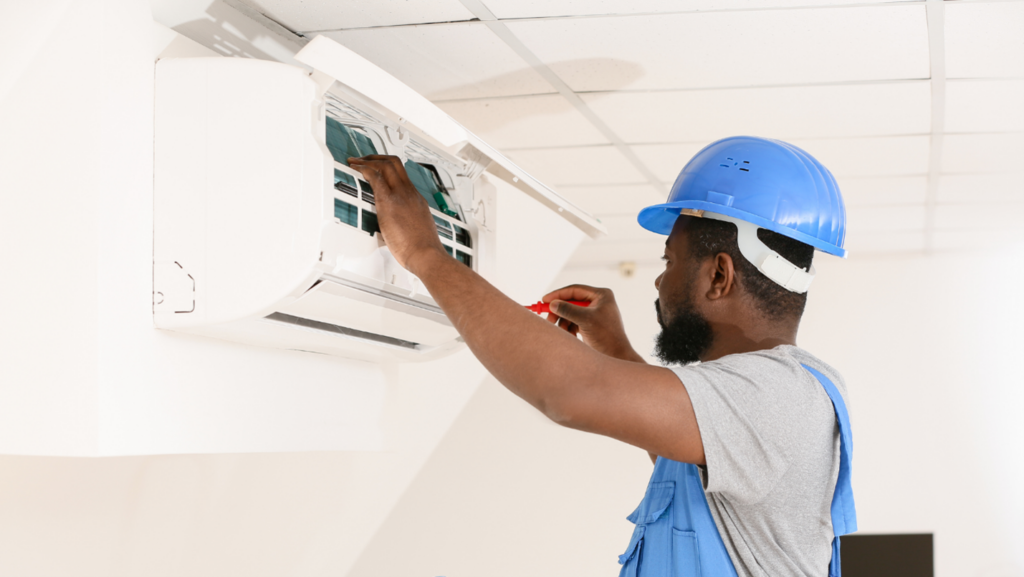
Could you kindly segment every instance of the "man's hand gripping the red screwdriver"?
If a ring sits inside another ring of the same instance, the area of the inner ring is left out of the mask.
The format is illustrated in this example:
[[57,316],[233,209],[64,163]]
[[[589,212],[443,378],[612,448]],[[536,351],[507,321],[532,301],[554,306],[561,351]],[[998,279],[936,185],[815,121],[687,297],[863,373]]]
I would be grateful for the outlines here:
[[[646,362],[626,336],[623,317],[610,289],[569,285],[549,292],[541,300],[551,303],[549,323],[582,336],[598,353],[624,361]],[[566,300],[588,300],[590,306],[577,306]]]

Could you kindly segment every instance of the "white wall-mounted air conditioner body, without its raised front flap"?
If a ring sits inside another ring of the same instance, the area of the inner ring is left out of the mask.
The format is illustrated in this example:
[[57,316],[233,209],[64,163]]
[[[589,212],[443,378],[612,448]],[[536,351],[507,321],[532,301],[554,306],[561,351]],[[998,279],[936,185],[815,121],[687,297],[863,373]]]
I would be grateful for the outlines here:
[[243,58],[160,60],[154,321],[164,329],[370,361],[460,346],[397,264],[345,159],[395,155],[454,258],[494,269],[494,187],[358,93]]

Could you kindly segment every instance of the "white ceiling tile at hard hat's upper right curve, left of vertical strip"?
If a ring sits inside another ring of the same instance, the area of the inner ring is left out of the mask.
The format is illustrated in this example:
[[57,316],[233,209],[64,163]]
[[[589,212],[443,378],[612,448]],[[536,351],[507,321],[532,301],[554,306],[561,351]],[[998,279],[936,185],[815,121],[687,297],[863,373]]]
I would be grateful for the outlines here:
[[928,136],[791,140],[843,176],[898,176],[928,172]]

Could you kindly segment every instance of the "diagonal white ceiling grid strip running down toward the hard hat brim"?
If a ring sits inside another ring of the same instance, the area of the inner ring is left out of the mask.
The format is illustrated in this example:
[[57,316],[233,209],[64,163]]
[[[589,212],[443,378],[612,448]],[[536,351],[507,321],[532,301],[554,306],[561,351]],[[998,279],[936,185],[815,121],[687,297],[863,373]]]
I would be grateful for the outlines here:
[[548,65],[544,64],[541,58],[537,56],[526,47],[522,41],[519,40],[517,36],[512,34],[512,31],[508,29],[504,24],[498,20],[494,13],[483,5],[480,0],[460,0],[463,6],[472,12],[476,17],[480,18],[488,29],[502,40],[509,48],[511,48],[516,54],[519,55],[527,65],[529,65],[538,74],[541,75],[549,84],[551,84],[558,93],[561,94],[570,105],[574,108],[584,118],[587,119],[597,130],[604,135],[612,146],[622,153],[623,156],[636,168],[640,174],[643,175],[647,181],[657,189],[658,192],[666,194],[668,191],[665,184],[654,175],[654,172],[647,167],[646,164],[640,161],[640,158],[636,156],[633,150],[626,143],[625,140],[618,137],[614,131],[604,123],[603,120],[598,118],[594,111],[583,101],[583,98],[579,96],[568,84],[557,75],[553,70],[551,70]]

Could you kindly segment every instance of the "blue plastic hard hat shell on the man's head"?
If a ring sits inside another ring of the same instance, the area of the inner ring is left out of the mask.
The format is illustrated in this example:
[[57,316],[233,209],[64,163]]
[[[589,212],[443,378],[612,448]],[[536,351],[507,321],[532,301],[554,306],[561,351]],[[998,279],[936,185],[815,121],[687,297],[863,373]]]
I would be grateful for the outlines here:
[[771,138],[731,136],[705,147],[679,173],[669,202],[637,220],[668,235],[683,209],[724,214],[846,257],[846,206],[831,172]]

